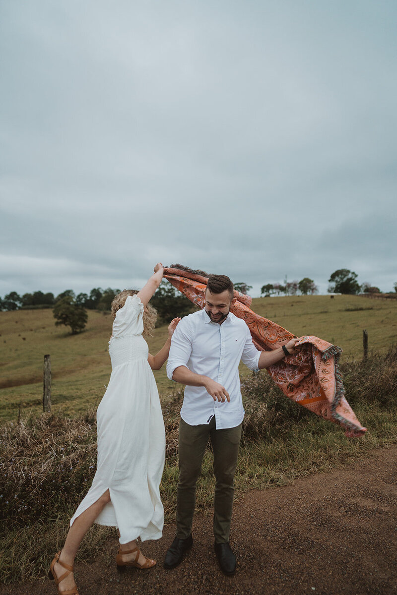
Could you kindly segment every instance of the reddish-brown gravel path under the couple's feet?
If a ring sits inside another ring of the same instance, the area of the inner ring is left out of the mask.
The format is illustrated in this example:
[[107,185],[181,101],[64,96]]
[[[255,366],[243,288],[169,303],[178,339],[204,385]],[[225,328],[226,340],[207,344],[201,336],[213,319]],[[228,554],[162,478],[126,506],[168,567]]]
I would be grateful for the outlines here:
[[[171,571],[162,560],[174,525],[143,552],[158,560],[149,571],[118,575],[110,540],[101,559],[76,565],[80,595],[338,595],[397,593],[397,445],[343,469],[291,486],[248,491],[235,505],[234,577],[224,577],[213,550],[212,515],[196,515],[194,543]],[[0,587],[0,594],[53,595],[54,583]]]

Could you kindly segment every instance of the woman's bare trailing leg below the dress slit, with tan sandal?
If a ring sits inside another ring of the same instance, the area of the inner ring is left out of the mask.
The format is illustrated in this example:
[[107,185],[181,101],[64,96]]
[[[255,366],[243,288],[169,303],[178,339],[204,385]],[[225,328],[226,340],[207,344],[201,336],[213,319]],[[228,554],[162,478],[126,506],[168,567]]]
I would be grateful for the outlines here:
[[[82,512],[80,516],[77,516],[77,519],[73,522],[73,525],[68,531],[65,545],[60,555],[62,562],[69,566],[73,566],[74,558],[76,557],[77,550],[79,549],[80,543],[82,543],[83,537],[108,502],[110,502],[110,493],[109,490],[106,490],[96,502]],[[54,566],[54,572],[57,577],[60,577],[64,574],[65,569],[57,562]],[[61,581],[60,591],[67,591],[68,589],[73,588],[74,584],[73,572],[71,572],[71,574]]]

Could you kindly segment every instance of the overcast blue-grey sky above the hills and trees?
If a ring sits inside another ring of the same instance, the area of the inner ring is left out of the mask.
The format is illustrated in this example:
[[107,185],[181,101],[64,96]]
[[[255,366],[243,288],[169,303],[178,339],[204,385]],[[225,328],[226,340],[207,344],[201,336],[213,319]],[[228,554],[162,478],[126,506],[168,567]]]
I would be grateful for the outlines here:
[[393,290],[395,0],[1,0],[0,296]]

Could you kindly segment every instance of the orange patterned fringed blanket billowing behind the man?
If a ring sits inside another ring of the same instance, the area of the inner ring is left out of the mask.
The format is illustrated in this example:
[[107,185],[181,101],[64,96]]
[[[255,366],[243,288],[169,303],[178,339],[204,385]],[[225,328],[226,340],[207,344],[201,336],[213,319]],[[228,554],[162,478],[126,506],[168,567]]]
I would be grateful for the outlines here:
[[[165,268],[164,276],[190,301],[204,308],[207,274],[182,265],[171,265]],[[251,297],[236,290],[235,297],[230,311],[245,320],[255,346],[261,351],[276,349],[295,336],[275,322],[255,314],[249,308]],[[338,365],[342,349],[311,335],[301,337],[296,347],[296,355],[267,368],[271,378],[289,399],[342,425],[346,436],[362,436],[367,428],[362,427],[345,399]]]

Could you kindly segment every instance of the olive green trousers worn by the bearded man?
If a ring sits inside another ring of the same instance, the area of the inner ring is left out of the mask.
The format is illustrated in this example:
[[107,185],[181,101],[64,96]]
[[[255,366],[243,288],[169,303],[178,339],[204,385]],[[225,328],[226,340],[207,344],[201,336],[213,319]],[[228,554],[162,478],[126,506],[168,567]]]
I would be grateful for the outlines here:
[[216,543],[229,541],[232,520],[234,477],[241,438],[242,424],[217,430],[215,416],[209,424],[189,425],[181,418],[179,424],[179,482],[177,488],[176,536],[189,537],[196,504],[196,482],[208,439],[214,454],[215,497],[214,536]]

